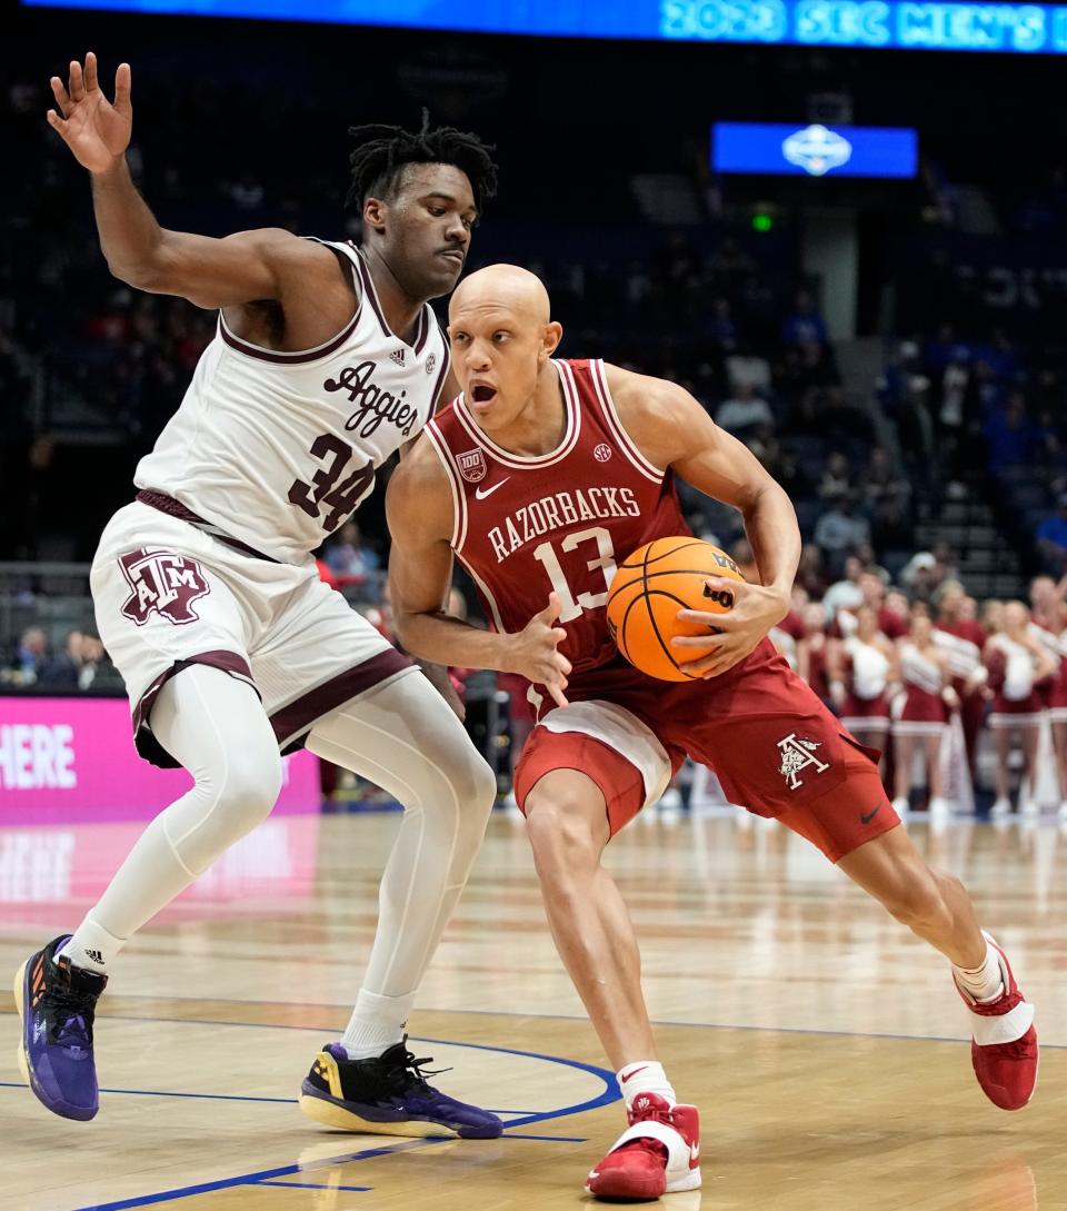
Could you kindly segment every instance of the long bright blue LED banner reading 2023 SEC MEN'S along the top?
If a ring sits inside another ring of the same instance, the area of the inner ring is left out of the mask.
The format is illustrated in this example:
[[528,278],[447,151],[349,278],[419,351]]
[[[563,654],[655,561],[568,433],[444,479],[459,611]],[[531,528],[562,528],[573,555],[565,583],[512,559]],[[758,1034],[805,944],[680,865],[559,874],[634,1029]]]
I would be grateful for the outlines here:
[[31,7],[256,17],[571,38],[1067,53],[1067,5],[910,0],[23,0]]

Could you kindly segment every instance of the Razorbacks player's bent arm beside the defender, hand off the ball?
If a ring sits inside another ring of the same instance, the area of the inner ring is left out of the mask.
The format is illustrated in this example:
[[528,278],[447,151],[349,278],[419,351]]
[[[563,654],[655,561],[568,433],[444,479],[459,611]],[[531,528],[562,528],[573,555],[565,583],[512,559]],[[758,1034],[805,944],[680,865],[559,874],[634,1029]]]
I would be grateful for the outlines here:
[[554,625],[560,612],[555,593],[514,633],[483,631],[443,610],[452,576],[454,505],[444,469],[426,437],[390,480],[386,518],[393,624],[408,652],[442,665],[519,673],[566,706],[571,665],[558,650],[566,631]]

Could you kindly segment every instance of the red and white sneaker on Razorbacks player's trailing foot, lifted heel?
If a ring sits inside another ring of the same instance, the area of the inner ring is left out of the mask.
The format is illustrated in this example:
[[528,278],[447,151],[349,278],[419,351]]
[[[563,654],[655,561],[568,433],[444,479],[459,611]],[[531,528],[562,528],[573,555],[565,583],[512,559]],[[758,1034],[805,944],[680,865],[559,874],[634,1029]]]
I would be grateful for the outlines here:
[[970,1061],[986,1097],[1002,1110],[1020,1110],[1033,1097],[1037,1085],[1039,1052],[1033,1005],[1023,1000],[1008,957],[985,930],[982,937],[999,957],[1004,992],[996,1000],[976,1001],[956,985],[975,1015]]

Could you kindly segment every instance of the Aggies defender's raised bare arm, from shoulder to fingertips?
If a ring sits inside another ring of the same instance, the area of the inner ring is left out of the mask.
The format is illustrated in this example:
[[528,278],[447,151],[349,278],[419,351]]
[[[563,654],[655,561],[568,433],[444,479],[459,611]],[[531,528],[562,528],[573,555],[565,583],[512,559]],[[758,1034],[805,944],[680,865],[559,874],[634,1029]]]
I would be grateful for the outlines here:
[[100,88],[92,51],[83,68],[76,59],[70,63],[65,85],[52,76],[51,86],[58,111],[48,110],[48,124],[90,172],[100,248],[121,281],[197,306],[221,308],[283,300],[287,282],[311,265],[334,271],[328,248],[289,231],[242,231],[213,240],[160,226],[126,163],[133,131],[128,63],[119,65],[114,102]]

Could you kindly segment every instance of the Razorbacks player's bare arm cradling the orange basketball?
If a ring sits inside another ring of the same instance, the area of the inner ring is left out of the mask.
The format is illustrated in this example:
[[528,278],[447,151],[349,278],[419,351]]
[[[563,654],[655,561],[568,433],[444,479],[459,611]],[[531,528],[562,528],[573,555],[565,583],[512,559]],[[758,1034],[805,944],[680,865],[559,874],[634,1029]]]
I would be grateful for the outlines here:
[[[761,584],[739,586],[711,578],[711,589],[733,593],[733,608],[714,615],[681,612],[682,618],[722,632],[714,653],[687,662],[692,673],[715,677],[749,655],[789,613],[801,552],[796,511],[752,452],[720,429],[688,391],[616,366],[607,367],[607,381],[619,418],[645,458],[656,466],[671,467],[687,483],[744,516]],[[671,642],[682,649],[680,656],[685,648],[708,645],[703,636]]]

